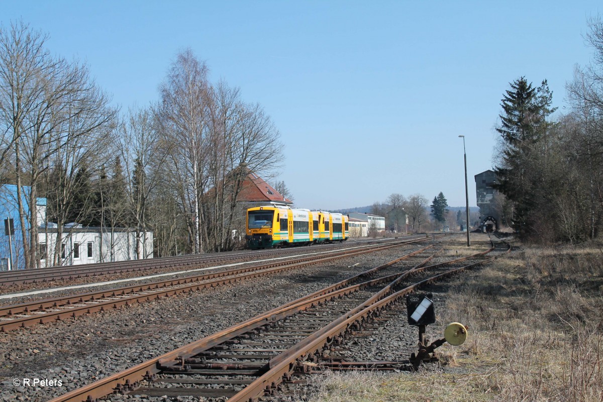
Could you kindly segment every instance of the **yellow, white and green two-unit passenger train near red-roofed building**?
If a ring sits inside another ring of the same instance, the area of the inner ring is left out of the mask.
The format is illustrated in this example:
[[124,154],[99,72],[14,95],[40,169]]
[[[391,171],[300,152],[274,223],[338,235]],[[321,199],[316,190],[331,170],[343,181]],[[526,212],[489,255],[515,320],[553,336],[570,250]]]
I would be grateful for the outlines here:
[[252,250],[343,242],[350,236],[346,215],[285,206],[248,209],[245,227],[247,247]]

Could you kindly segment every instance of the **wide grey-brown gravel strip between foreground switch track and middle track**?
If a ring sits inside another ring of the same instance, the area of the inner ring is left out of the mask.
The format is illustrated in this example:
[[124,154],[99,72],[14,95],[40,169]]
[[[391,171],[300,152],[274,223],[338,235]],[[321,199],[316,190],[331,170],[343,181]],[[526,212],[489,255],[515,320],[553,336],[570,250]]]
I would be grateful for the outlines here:
[[[331,265],[313,265],[270,278],[2,333],[2,398],[48,400],[417,248],[364,254]],[[14,386],[12,381],[21,378],[60,380],[62,386]]]

